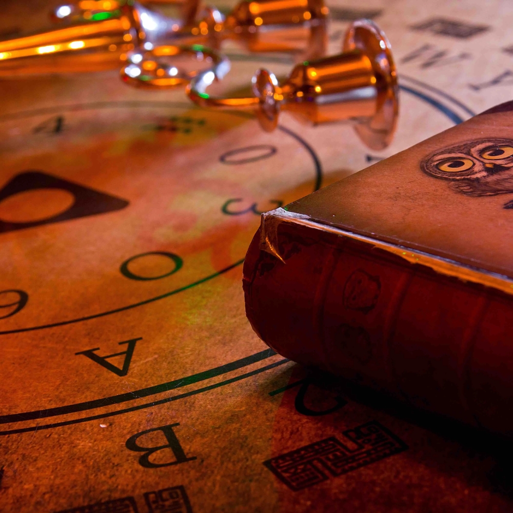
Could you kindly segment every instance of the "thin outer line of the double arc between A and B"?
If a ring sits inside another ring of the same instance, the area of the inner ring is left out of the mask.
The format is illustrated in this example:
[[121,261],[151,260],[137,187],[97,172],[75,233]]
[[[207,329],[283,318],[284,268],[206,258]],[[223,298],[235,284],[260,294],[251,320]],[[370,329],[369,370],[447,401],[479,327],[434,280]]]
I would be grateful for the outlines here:
[[260,374],[261,372],[265,372],[266,370],[274,369],[275,367],[279,367],[284,363],[288,363],[290,360],[284,358],[275,363],[271,363],[270,365],[266,365],[265,367],[260,367],[259,369],[252,370],[251,372],[246,372],[245,374],[241,374],[240,376],[235,376],[234,378],[230,378],[229,380],[221,381],[219,383],[214,383],[213,385],[205,386],[203,388],[198,388],[196,390],[191,390],[190,392],[181,393],[177,396],[167,397],[165,399],[161,399],[160,401],[153,401],[151,403],[140,404],[138,406],[132,406],[131,408],[124,408],[122,410],[110,411],[108,413],[103,413],[103,415],[92,415],[91,417],[83,417],[81,419],[68,420],[63,422],[54,422],[53,424],[43,424],[31,427],[21,427],[18,429],[10,429],[8,431],[0,431],[0,437],[5,435],[14,435],[15,433],[27,433],[29,431],[41,431],[42,429],[52,429],[54,427],[62,427],[69,426],[71,424],[82,424],[83,422],[89,422],[92,420],[98,419],[106,419],[108,417],[114,417],[116,415],[123,415],[124,413],[130,413],[131,411],[142,410],[145,408],[152,408],[153,406],[159,406],[161,404],[169,403],[171,401],[177,401],[179,399],[185,399],[186,397],[195,396],[198,393],[207,392],[208,390],[213,390],[214,388],[219,388],[224,385],[229,385],[231,383],[235,383],[236,381],[241,381],[246,378],[250,378],[251,376],[255,376],[256,374]]

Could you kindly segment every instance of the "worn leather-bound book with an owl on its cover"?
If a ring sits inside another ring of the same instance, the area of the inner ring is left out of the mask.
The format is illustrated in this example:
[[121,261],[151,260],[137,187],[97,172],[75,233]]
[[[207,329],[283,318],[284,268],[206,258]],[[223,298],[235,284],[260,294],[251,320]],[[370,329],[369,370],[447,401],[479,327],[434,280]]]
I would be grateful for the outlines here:
[[243,284],[285,357],[513,435],[513,102],[263,214]]

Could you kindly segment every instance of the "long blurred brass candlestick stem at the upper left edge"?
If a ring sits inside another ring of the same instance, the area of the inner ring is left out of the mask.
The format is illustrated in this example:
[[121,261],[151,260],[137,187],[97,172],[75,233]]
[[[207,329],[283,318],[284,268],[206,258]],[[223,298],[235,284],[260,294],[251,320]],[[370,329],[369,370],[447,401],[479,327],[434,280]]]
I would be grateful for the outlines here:
[[[132,0],[83,0],[78,8],[88,18],[81,23],[0,41],[0,76],[119,68],[128,52],[153,48],[183,25]],[[67,5],[55,11],[62,18],[73,12]]]

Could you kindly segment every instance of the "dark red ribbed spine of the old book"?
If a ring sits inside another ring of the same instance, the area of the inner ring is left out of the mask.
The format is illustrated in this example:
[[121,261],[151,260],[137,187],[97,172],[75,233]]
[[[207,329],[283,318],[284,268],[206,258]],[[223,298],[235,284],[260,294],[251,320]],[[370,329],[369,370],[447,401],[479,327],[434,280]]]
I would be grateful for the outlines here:
[[282,223],[255,235],[246,314],[283,356],[465,423],[513,435],[513,298],[372,244]]

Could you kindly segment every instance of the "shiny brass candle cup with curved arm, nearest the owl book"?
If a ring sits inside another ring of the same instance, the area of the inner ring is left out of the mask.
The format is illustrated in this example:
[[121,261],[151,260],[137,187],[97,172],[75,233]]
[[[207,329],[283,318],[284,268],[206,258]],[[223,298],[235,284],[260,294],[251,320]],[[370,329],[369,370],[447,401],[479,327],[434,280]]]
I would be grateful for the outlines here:
[[191,100],[202,107],[255,110],[267,131],[277,126],[282,110],[315,125],[351,121],[372,149],[388,146],[396,129],[396,67],[385,34],[368,19],[351,24],[343,53],[297,65],[281,84],[271,72],[258,70],[252,97],[212,97],[206,89],[213,80],[208,71],[193,78],[187,89]]

